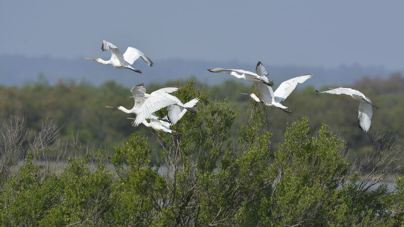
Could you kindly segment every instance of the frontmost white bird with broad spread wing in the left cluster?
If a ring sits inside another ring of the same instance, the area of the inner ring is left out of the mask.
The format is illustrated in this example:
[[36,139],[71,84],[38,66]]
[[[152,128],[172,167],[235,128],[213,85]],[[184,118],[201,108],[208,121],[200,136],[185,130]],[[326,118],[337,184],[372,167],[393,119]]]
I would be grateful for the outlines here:
[[149,118],[152,113],[166,106],[168,106],[167,119],[172,125],[174,125],[185,114],[186,110],[196,113],[191,107],[198,102],[199,98],[194,98],[184,104],[177,97],[169,94],[177,90],[177,87],[166,87],[151,92],[150,94],[144,93],[141,95],[146,98],[146,100],[143,102],[133,125],[138,126],[144,121],[144,119]]

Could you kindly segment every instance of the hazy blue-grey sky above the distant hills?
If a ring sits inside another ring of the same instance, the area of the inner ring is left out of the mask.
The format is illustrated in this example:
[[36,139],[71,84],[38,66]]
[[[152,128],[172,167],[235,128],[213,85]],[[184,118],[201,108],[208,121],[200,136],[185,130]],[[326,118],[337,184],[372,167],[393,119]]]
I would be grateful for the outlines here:
[[0,54],[109,59],[105,39],[152,60],[402,70],[403,10],[369,0],[0,0]]

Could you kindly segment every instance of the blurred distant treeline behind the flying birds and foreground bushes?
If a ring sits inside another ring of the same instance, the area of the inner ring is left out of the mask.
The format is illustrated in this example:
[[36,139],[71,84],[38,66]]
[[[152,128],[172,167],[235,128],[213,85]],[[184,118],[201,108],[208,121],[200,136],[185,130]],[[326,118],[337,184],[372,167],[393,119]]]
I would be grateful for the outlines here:
[[[146,84],[146,88],[148,92],[151,92],[176,83],[184,84],[181,81]],[[239,110],[231,131],[231,134],[235,135],[239,126],[248,120],[246,112],[249,97],[240,93],[252,92],[252,86],[237,80],[228,80],[217,86],[208,86],[195,81],[195,85],[206,87],[211,92],[211,99],[226,98],[233,109]],[[276,89],[278,85],[279,82],[275,81],[274,88]],[[151,147],[159,150],[160,146],[149,129],[142,125],[137,128],[130,125],[130,120],[126,118],[133,116],[117,109],[104,107],[122,105],[131,108],[133,99],[129,98],[131,93],[125,86],[114,81],[100,86],[85,82],[61,81],[51,86],[43,79],[22,87],[0,86],[0,118],[25,116],[27,127],[36,130],[40,129],[44,119],[54,119],[63,126],[62,139],[70,139],[72,135],[76,136],[79,133],[78,138],[81,142],[105,148],[108,153],[112,153],[113,146],[127,141],[134,131],[139,131],[150,138]],[[369,152],[372,149],[372,135],[377,131],[391,131],[397,137],[404,135],[402,118],[404,116],[404,77],[400,74],[391,75],[388,79],[365,77],[347,87],[362,91],[379,107],[373,110],[372,125],[368,133],[363,133],[358,128],[359,103],[357,101],[345,95],[318,94],[314,91],[314,87],[305,87],[303,84],[298,85],[297,89],[283,102],[293,112],[293,117],[287,116],[277,108],[266,108],[268,128],[273,133],[271,146],[275,146],[274,149],[277,148],[286,130],[286,122],[291,123],[303,116],[310,118],[311,127],[314,130],[319,130],[324,123],[329,125],[334,133],[343,137],[349,147],[350,158]]]

